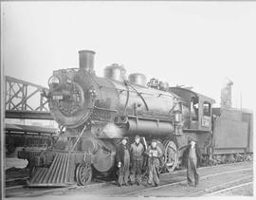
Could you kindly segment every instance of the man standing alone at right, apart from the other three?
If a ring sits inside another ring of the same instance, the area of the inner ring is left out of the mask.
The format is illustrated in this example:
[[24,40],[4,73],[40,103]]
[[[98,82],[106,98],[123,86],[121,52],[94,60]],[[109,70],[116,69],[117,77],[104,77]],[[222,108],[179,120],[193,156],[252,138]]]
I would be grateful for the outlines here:
[[196,142],[196,139],[191,138],[190,144],[183,154],[183,162],[187,166],[188,186],[192,186],[192,180],[194,180],[194,187],[196,187],[199,183],[197,165],[199,165],[201,162],[201,153],[196,145]]

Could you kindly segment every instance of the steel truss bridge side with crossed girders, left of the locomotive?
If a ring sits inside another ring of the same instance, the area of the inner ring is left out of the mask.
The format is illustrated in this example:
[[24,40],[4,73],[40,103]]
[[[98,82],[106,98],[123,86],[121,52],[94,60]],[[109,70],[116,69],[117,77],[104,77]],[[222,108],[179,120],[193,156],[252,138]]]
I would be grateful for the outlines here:
[[53,119],[48,111],[47,91],[32,82],[25,82],[13,77],[5,77],[6,118]]

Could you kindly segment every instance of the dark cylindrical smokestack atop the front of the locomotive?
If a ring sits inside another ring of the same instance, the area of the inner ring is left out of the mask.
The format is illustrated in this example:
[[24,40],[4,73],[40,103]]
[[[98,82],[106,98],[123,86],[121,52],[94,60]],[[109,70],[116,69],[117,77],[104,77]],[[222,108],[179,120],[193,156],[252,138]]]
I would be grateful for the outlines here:
[[79,51],[79,67],[86,71],[94,71],[94,55],[92,50],[80,50]]

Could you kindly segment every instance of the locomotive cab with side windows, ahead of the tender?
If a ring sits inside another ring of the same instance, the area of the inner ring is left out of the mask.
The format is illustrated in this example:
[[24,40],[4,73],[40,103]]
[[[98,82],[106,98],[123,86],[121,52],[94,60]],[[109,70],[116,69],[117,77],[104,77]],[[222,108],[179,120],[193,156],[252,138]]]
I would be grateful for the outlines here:
[[183,113],[183,118],[187,118],[187,126],[184,126],[184,134],[178,139],[179,159],[192,137],[197,139],[197,146],[203,156],[207,156],[212,137],[212,104],[215,101],[187,88],[170,87],[170,91],[183,98],[188,105],[186,115]]

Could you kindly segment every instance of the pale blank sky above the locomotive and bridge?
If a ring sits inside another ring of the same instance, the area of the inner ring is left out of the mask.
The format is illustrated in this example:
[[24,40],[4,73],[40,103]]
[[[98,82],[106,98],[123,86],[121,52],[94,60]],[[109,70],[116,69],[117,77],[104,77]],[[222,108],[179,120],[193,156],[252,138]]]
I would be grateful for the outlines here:
[[123,64],[216,100],[233,84],[233,107],[253,109],[256,2],[2,2],[5,75],[47,86],[52,71],[96,51],[98,76]]

